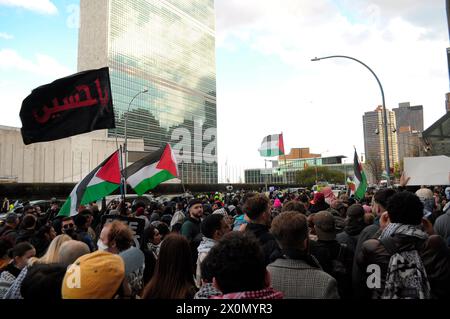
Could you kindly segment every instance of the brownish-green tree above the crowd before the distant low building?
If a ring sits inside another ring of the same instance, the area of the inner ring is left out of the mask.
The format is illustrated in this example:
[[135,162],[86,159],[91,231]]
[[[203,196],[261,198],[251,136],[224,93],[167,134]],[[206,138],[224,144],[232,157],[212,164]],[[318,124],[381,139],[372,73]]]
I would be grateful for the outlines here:
[[316,180],[327,181],[331,184],[340,184],[343,183],[344,179],[344,173],[331,170],[328,167],[323,166],[308,167],[304,170],[298,171],[296,176],[297,184],[305,187],[314,186],[316,184]]

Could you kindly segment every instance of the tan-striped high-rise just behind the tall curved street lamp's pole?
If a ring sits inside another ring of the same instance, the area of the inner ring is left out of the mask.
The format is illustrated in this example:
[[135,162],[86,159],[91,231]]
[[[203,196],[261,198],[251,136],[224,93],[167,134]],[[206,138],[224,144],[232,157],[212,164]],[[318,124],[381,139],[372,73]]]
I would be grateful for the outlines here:
[[[391,169],[395,163],[399,162],[397,148],[397,129],[395,113],[386,110],[388,118],[388,144],[389,144],[389,162]],[[378,106],[375,111],[365,112],[363,115],[364,127],[364,150],[366,161],[372,162],[376,168],[373,172],[376,179],[380,178],[381,172],[385,170],[385,146],[384,146],[384,128],[383,128],[383,108]]]

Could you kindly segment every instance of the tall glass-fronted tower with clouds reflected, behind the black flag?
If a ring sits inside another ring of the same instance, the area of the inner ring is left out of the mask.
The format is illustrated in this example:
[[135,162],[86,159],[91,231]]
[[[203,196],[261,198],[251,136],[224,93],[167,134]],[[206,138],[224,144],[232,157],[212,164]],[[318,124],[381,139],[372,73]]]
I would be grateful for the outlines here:
[[145,151],[171,143],[185,183],[217,182],[214,0],[81,0],[78,70],[104,66],[107,137],[124,137],[127,119]]

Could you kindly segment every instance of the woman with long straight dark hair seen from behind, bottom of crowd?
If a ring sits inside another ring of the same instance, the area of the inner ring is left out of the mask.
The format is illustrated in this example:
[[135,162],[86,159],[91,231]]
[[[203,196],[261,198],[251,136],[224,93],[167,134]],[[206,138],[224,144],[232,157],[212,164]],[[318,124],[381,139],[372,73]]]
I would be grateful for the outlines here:
[[155,272],[144,289],[144,299],[191,299],[196,288],[187,239],[168,235],[161,244]]

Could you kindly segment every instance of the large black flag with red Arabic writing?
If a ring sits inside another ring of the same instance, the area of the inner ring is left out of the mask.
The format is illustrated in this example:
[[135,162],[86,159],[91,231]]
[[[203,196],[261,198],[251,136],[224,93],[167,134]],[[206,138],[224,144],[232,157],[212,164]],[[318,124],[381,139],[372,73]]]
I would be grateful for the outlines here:
[[20,110],[25,145],[115,128],[108,67],[34,89]]

